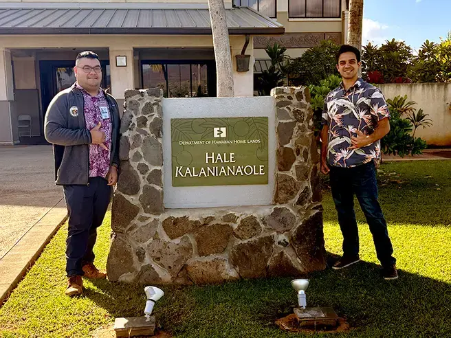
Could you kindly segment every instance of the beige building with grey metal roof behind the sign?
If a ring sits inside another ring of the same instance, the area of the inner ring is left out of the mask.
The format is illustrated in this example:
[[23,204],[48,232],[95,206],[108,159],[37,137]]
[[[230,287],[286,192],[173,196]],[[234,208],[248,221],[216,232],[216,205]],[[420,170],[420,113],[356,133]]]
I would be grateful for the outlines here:
[[[278,41],[296,57],[323,38],[340,43],[345,36],[346,1],[337,8],[320,0],[321,11],[311,0],[299,0],[306,7],[272,1],[225,0],[236,96],[254,95],[252,64],[265,62],[267,43]],[[120,104],[133,88],[162,87],[168,98],[216,95],[207,0],[0,1],[0,144],[43,142],[47,106],[74,83],[83,50],[98,53],[102,86]],[[251,56],[248,71],[237,69],[243,52]]]

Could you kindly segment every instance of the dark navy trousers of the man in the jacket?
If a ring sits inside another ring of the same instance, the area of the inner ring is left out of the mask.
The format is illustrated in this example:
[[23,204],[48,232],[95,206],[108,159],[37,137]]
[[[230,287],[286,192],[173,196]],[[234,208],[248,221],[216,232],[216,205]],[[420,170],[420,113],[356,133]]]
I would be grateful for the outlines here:
[[66,273],[83,275],[83,264],[94,262],[97,228],[102,225],[111,199],[111,186],[102,177],[90,177],[89,185],[64,185],[69,234],[66,240]]

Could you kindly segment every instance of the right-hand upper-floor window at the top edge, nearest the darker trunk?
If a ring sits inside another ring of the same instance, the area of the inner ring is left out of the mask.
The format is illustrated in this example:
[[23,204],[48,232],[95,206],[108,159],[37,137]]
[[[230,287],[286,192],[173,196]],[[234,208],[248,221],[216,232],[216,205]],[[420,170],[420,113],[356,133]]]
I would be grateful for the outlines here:
[[340,18],[341,0],[289,0],[290,18]]

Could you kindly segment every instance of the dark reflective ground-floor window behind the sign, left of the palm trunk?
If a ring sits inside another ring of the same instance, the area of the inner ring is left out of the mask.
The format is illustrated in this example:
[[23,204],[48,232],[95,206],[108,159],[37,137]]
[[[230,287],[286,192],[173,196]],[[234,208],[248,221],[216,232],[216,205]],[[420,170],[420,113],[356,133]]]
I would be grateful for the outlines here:
[[207,65],[196,64],[143,64],[144,88],[159,87],[165,98],[199,98],[208,96]]

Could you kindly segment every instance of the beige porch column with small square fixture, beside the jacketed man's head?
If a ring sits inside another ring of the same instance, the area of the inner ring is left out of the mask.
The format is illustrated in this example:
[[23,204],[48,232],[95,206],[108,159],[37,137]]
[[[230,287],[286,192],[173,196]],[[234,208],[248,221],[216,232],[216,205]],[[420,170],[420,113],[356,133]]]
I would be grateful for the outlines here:
[[[126,66],[116,66],[116,56],[126,57]],[[119,112],[122,115],[125,89],[135,89],[133,47],[129,49],[109,48],[109,69],[111,75],[111,95],[118,100]]]

